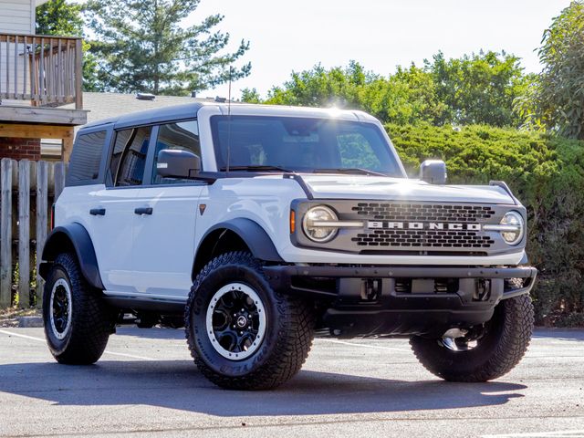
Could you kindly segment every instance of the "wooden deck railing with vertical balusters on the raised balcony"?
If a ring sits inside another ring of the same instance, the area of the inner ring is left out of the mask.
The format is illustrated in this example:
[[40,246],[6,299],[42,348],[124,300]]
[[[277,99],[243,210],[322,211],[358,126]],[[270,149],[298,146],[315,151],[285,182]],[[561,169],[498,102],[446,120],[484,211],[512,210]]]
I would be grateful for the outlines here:
[[81,38],[0,33],[0,99],[83,109]]

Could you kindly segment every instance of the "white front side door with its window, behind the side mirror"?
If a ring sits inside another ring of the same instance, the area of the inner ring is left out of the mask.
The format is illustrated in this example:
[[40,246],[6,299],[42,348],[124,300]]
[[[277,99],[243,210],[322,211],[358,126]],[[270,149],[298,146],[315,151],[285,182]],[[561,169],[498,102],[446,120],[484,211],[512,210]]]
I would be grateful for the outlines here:
[[156,162],[163,149],[201,156],[197,121],[161,124],[152,138],[145,181],[135,193],[142,214],[133,217],[133,282],[143,296],[184,301],[192,286],[194,227],[205,184],[162,178]]

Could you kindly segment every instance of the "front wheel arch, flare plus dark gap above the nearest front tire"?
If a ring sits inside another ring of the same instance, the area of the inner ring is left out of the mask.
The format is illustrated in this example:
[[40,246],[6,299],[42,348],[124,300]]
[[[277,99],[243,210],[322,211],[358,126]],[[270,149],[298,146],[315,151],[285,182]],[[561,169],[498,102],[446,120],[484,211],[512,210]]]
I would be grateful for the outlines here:
[[266,262],[283,262],[266,230],[251,219],[237,218],[214,224],[203,235],[193,260],[192,279],[217,255],[249,251]]

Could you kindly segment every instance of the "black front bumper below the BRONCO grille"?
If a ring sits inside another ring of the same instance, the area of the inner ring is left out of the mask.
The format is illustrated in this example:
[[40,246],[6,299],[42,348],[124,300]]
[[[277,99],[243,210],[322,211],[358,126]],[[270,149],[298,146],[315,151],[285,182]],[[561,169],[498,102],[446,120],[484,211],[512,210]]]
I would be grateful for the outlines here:
[[[325,304],[321,325],[338,336],[440,336],[493,317],[502,299],[529,293],[535,267],[265,266],[276,291]],[[512,278],[522,286],[511,285]]]

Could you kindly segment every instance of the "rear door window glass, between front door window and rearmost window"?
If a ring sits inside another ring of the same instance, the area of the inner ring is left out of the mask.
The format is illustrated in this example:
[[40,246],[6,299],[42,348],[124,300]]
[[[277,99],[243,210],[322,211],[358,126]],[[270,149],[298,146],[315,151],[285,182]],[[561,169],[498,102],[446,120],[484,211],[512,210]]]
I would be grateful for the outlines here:
[[110,162],[111,178],[115,186],[142,183],[150,136],[150,126],[117,132]]

